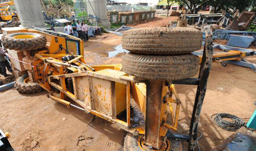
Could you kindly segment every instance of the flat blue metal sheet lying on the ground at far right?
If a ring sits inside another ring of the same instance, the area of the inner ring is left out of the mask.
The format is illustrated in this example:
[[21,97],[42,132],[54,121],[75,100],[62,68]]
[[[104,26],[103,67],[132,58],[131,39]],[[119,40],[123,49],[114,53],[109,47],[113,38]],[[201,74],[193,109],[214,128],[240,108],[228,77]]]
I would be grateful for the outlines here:
[[230,35],[230,38],[228,39],[228,42],[226,45],[248,48],[252,44],[254,39],[255,37],[253,36]]

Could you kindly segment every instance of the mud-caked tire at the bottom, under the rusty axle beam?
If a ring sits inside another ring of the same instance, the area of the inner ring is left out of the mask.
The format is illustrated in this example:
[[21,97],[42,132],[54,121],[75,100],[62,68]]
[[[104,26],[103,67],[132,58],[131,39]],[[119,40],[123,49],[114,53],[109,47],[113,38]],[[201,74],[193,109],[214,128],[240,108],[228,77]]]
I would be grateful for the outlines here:
[[[124,151],[142,151],[137,140],[138,136],[128,133],[125,137]],[[184,143],[171,140],[171,148],[169,151],[185,151]]]

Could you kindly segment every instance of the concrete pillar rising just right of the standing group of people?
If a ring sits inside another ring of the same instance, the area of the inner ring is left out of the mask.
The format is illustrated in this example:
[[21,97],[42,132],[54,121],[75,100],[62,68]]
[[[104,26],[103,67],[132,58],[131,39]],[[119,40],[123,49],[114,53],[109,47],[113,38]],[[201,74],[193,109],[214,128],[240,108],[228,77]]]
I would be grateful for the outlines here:
[[86,0],[88,15],[94,15],[100,18],[100,25],[110,27],[107,19],[107,1],[106,0]]

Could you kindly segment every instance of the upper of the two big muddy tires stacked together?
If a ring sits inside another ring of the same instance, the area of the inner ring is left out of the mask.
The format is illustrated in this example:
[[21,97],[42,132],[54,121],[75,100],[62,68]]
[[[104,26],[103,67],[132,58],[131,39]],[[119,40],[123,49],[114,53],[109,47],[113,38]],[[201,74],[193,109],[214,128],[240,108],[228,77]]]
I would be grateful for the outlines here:
[[123,49],[137,53],[186,54],[201,45],[201,31],[188,27],[135,28],[122,35]]

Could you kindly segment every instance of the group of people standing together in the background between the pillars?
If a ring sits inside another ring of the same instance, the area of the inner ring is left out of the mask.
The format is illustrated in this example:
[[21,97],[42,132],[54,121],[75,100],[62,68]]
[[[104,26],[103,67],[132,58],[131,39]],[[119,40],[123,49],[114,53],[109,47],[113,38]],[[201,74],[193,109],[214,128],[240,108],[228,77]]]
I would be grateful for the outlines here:
[[70,22],[66,24],[64,27],[65,34],[78,37],[83,41],[89,40],[88,30],[89,25],[87,25],[85,22],[80,23],[80,21],[77,21],[77,23],[75,23],[75,20],[73,20],[72,23]]

